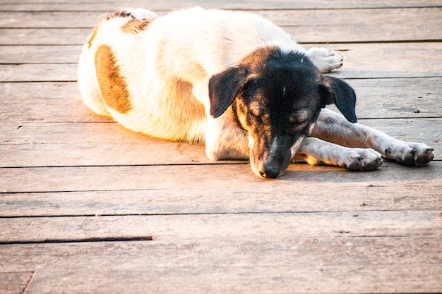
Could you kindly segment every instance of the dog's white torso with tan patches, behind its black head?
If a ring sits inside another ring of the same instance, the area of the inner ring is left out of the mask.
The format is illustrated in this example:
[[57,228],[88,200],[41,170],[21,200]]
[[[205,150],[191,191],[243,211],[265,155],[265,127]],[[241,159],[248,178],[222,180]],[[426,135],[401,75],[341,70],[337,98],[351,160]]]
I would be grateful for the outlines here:
[[302,51],[286,32],[250,13],[191,8],[156,18],[121,10],[88,38],[78,85],[90,109],[126,128],[202,142],[208,80],[265,46]]

